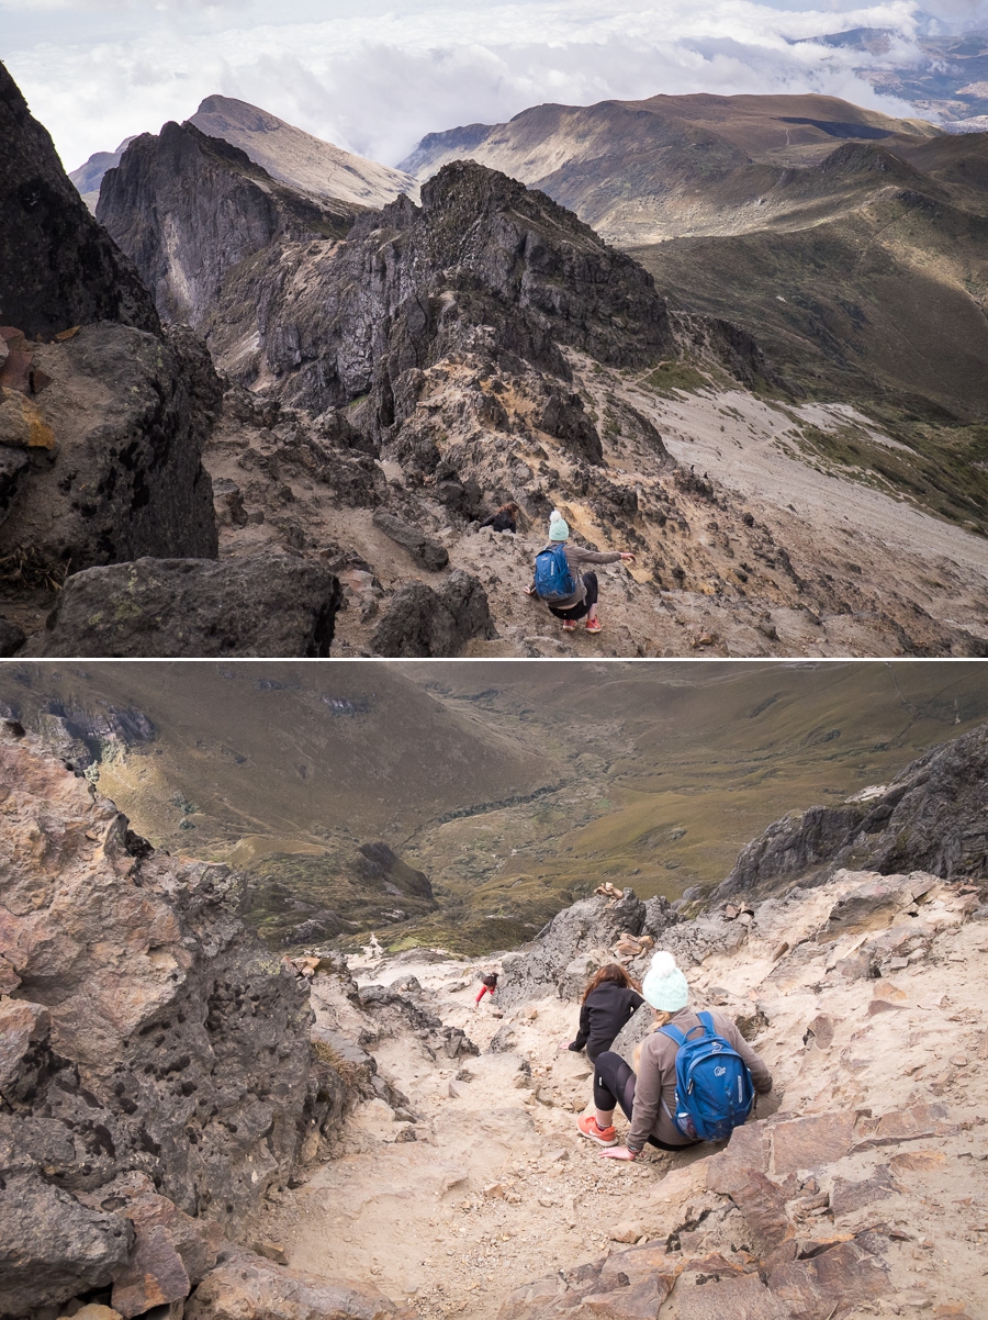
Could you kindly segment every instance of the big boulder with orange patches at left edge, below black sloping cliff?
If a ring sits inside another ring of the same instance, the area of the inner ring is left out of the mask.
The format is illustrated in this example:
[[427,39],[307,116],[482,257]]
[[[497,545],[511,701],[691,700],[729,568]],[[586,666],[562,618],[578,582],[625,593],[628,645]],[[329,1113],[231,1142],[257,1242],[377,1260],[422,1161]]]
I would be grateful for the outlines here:
[[[220,388],[203,346],[189,331],[162,341],[103,322],[30,351],[50,383],[37,399],[3,391],[0,453],[26,462],[7,496],[0,553],[77,570],[215,556],[201,457]],[[25,437],[17,418],[30,420]]]

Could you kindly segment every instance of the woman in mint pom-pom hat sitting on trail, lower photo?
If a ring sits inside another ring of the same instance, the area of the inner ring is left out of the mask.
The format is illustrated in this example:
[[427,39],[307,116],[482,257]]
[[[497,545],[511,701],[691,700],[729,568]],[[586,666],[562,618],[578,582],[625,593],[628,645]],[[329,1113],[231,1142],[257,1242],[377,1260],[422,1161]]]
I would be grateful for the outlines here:
[[[590,1140],[612,1159],[637,1159],[645,1144],[678,1151],[699,1140],[726,1140],[760,1096],[772,1090],[764,1061],[723,1012],[687,1007],[686,977],[660,949],[641,991],[656,1026],[640,1045],[638,1074],[611,1049],[594,1065],[596,1111],[578,1121]],[[631,1119],[624,1146],[613,1129],[615,1106]]]

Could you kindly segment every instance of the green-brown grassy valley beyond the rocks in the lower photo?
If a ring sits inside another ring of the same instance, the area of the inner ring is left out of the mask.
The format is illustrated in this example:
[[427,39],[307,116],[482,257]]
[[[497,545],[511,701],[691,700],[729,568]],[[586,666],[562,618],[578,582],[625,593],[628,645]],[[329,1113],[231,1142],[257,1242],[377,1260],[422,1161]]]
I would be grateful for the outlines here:
[[605,879],[644,898],[706,891],[781,813],[839,807],[988,718],[977,663],[241,663],[190,677],[21,661],[0,668],[0,702],[154,846],[243,870],[274,949],[352,949],[375,931],[389,949],[483,954]]

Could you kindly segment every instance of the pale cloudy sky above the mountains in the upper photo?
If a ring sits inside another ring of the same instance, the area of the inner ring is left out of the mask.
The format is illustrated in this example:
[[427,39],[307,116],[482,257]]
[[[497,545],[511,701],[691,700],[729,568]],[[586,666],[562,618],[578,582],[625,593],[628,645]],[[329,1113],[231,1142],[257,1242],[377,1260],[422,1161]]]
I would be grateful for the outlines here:
[[0,0],[0,57],[67,169],[211,92],[394,164],[427,132],[542,102],[823,91],[910,114],[851,53],[793,42],[894,28],[901,65],[930,17],[985,30],[988,0]]

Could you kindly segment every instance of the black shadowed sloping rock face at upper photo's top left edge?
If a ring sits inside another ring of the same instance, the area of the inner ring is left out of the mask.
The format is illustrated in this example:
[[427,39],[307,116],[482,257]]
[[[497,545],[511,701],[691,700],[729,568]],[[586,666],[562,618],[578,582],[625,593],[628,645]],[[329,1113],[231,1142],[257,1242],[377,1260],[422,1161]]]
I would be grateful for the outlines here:
[[0,65],[0,322],[42,338],[90,321],[160,330],[133,265],[86,210]]

